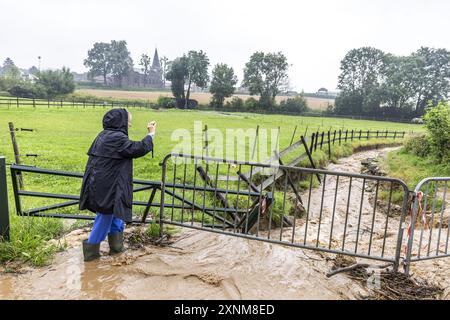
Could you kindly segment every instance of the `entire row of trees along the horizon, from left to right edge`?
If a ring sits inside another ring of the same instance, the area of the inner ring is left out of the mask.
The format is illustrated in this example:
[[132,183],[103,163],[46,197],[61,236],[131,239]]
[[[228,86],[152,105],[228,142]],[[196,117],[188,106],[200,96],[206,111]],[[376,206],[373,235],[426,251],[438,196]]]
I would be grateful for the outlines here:
[[[144,77],[149,75],[151,59],[142,54],[139,60]],[[238,85],[234,69],[218,63],[209,74],[210,62],[202,51],[190,50],[170,61],[160,59],[162,76],[171,82],[177,107],[188,108],[193,86],[208,89],[215,108],[266,109],[301,113],[308,111],[303,94],[277,103],[276,96],[288,88],[289,63],[282,52],[255,52],[243,70],[241,87],[251,97],[243,101],[232,97]],[[107,83],[111,76],[120,86],[133,70],[133,59],[126,41],[97,42],[88,51],[84,65],[91,78],[101,76]],[[408,56],[385,53],[372,47],[350,50],[340,65],[339,96],[329,113],[410,118],[424,114],[428,105],[445,101],[450,92],[450,52],[442,48],[421,47]],[[1,68],[0,90],[14,96],[54,98],[72,93],[73,75],[68,68],[40,71],[30,69],[24,78],[11,59]]]

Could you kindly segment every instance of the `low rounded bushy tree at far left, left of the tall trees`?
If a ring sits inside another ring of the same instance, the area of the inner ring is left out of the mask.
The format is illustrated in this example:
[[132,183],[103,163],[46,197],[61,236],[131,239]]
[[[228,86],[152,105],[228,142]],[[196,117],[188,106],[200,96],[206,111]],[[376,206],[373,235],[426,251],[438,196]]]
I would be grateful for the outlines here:
[[41,87],[45,98],[54,98],[69,94],[75,90],[75,81],[69,68],[61,70],[46,70],[38,73],[36,86]]

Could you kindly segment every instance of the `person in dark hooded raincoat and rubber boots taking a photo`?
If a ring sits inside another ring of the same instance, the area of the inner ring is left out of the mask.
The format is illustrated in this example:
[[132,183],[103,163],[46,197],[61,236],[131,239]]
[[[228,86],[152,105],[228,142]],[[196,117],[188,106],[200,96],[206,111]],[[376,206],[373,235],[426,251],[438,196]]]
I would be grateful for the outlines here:
[[110,254],[122,252],[124,222],[132,220],[133,159],[153,149],[156,123],[148,123],[141,141],[128,138],[132,116],[125,109],[112,109],[103,117],[103,131],[88,151],[89,159],[80,193],[80,210],[96,213],[94,226],[83,241],[85,261],[100,257],[100,243],[108,236]]

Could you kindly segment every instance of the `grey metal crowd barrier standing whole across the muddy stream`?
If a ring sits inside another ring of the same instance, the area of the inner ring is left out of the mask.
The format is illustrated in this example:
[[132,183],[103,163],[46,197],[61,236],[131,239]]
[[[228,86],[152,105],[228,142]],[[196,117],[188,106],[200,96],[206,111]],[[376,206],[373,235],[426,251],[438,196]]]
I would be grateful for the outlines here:
[[[208,189],[206,182],[197,181],[195,172],[203,163],[206,168],[211,168],[208,175],[215,188]],[[219,176],[222,180],[223,177],[231,177],[230,167],[235,168],[237,177],[218,181]],[[245,181],[238,174],[244,167],[249,172],[248,178],[244,176]],[[166,206],[160,207],[161,226],[168,223],[293,247],[343,253],[392,262],[396,270],[399,267],[409,198],[409,190],[401,180],[185,154],[166,156],[162,162],[162,174],[161,190],[164,192],[161,193],[161,203],[172,202],[172,206],[170,210]],[[284,181],[276,180],[279,174],[284,176]],[[322,177],[320,188],[316,188],[317,175]],[[265,176],[271,177],[272,183],[266,186],[266,190],[260,185],[259,192],[255,192],[253,182],[264,180]],[[307,184],[303,199],[293,196],[297,190],[288,183],[292,177]],[[170,189],[167,181],[172,185],[174,181],[181,181],[184,188],[178,191],[182,194],[166,192]],[[224,215],[224,210],[230,208],[224,208],[223,203],[217,200],[215,195],[219,190],[238,219],[231,220]],[[239,201],[244,191],[247,191],[245,201]],[[400,193],[400,203],[393,203],[394,192]],[[177,209],[173,205],[175,200],[185,203],[186,197],[193,199],[192,205],[196,209],[191,210],[189,219],[185,219],[185,208]],[[394,205],[396,213],[393,213]],[[207,206],[212,206],[213,212],[212,219],[205,220],[202,208]],[[382,208],[378,210],[377,207]],[[194,211],[197,216],[194,216]]]

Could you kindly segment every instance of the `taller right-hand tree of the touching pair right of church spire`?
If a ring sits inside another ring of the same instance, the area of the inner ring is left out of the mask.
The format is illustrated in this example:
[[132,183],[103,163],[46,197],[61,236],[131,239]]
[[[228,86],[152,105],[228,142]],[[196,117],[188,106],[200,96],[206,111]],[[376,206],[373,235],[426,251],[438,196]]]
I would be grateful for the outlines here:
[[209,59],[202,50],[189,51],[186,57],[187,68],[187,92],[184,107],[187,108],[191,94],[191,85],[195,84],[199,88],[204,88],[208,84]]

